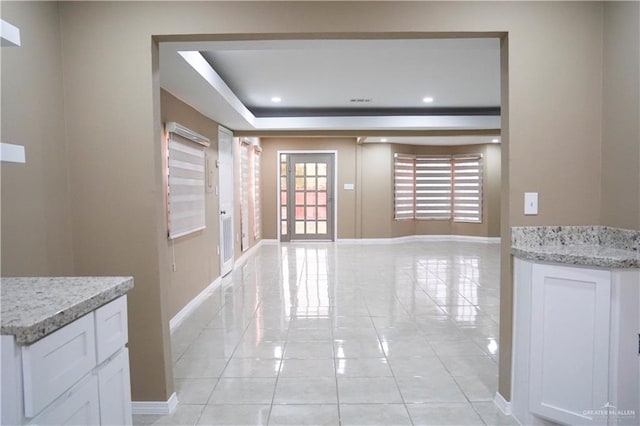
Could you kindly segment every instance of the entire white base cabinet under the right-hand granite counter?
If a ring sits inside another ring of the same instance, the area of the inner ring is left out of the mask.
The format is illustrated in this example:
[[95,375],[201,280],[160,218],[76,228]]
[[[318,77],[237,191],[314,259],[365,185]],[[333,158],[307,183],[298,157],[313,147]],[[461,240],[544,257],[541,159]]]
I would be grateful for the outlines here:
[[521,424],[638,424],[640,272],[515,259]]

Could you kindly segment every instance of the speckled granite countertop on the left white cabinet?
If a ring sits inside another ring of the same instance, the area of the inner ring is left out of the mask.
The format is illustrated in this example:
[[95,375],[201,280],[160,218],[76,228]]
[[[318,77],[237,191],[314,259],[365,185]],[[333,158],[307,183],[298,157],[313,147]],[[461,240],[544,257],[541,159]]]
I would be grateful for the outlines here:
[[2,278],[0,334],[31,344],[132,288],[132,277]]

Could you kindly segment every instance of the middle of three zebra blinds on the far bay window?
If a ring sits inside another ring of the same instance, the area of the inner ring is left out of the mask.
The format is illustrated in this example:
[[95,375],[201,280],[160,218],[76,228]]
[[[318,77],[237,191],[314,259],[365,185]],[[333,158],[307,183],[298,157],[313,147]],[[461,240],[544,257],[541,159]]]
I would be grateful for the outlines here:
[[451,157],[418,155],[415,173],[415,218],[451,218]]

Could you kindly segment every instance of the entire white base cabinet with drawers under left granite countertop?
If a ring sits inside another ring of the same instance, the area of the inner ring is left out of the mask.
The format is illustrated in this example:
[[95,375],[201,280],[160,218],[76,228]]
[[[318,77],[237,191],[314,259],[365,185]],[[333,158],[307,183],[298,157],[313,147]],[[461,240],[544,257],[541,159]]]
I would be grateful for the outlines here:
[[2,336],[0,423],[130,425],[126,343],[126,296],[30,345]]

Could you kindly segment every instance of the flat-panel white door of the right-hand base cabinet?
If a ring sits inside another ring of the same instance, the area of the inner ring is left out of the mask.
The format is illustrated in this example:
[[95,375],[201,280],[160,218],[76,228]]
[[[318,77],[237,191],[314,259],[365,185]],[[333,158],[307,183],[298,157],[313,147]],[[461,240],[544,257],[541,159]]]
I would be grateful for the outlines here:
[[529,405],[567,424],[607,423],[611,274],[533,265]]

